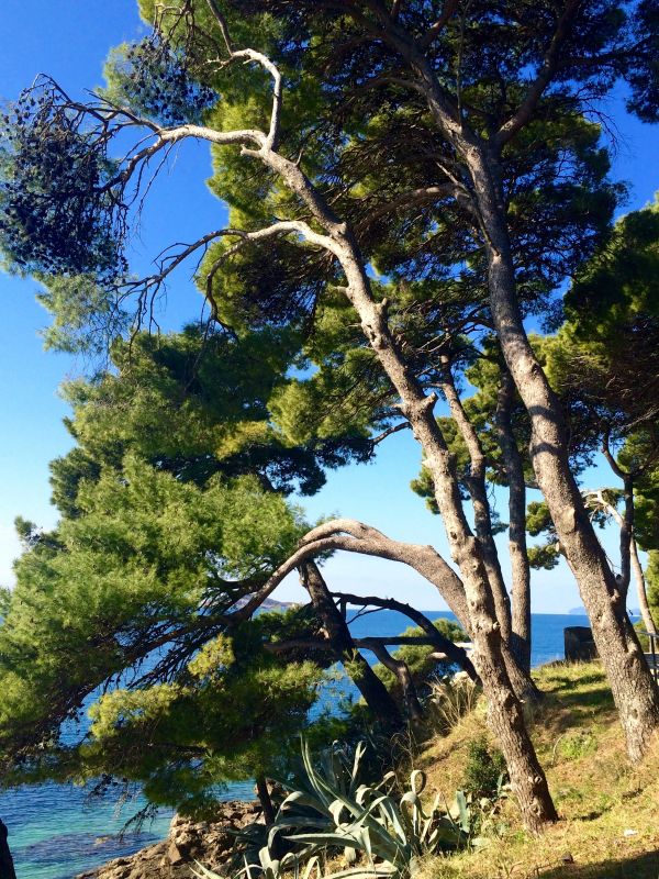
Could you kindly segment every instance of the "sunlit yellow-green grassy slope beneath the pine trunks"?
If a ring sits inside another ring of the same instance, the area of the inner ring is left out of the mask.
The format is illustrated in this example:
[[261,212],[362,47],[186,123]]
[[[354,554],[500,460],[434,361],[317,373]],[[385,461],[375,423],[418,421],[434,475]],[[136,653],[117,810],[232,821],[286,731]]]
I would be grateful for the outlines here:
[[[428,863],[424,879],[659,879],[659,742],[643,765],[629,764],[599,664],[555,664],[536,679],[547,697],[529,724],[561,821],[529,837],[510,801],[501,838]],[[479,704],[425,750],[428,786],[447,800],[460,787],[467,743],[483,731]]]

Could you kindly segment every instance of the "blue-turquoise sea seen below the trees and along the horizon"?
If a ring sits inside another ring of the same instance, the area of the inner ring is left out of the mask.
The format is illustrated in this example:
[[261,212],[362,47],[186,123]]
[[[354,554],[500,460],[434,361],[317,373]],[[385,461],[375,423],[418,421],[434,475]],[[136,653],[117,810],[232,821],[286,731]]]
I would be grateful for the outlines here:
[[[431,619],[453,614],[427,611]],[[394,611],[380,611],[348,621],[356,637],[398,635],[410,621]],[[563,628],[588,625],[578,614],[534,614],[532,664],[544,665],[563,656]],[[1,698],[1,697],[0,697]],[[254,799],[250,782],[230,785],[220,797]],[[92,795],[74,785],[43,783],[0,793],[0,819],[9,830],[18,879],[74,879],[79,872],[112,858],[130,855],[167,835],[172,813],[163,810],[139,831],[122,834],[130,819],[145,805],[138,792],[118,802],[107,794]]]

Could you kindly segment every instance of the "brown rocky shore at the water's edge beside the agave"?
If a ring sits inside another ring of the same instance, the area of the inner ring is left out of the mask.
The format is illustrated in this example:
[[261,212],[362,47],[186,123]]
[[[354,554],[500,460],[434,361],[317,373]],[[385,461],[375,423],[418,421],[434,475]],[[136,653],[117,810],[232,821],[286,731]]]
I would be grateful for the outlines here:
[[258,803],[239,800],[222,803],[217,820],[212,822],[176,815],[163,842],[78,874],[76,879],[191,879],[190,868],[196,861],[223,874],[235,838],[230,831],[261,820]]

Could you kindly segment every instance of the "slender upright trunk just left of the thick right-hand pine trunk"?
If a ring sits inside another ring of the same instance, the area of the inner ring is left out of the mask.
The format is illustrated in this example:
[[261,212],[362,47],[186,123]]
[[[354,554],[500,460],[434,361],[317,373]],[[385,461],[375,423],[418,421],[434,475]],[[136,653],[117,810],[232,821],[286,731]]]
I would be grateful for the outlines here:
[[521,668],[530,671],[530,566],[526,549],[526,480],[524,463],[513,434],[514,393],[512,376],[503,366],[496,403],[496,432],[509,483],[509,553],[513,578],[511,647]]

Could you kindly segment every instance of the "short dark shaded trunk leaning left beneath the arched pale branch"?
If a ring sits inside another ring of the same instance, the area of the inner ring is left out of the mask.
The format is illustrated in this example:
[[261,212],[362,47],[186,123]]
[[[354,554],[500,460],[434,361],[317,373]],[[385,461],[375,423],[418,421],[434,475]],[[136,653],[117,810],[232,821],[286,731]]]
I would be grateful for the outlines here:
[[403,719],[394,699],[355,646],[350,630],[334,603],[315,561],[305,561],[300,566],[300,572],[337,659],[349,669],[353,683],[364,697],[373,716],[384,726],[402,726]]

